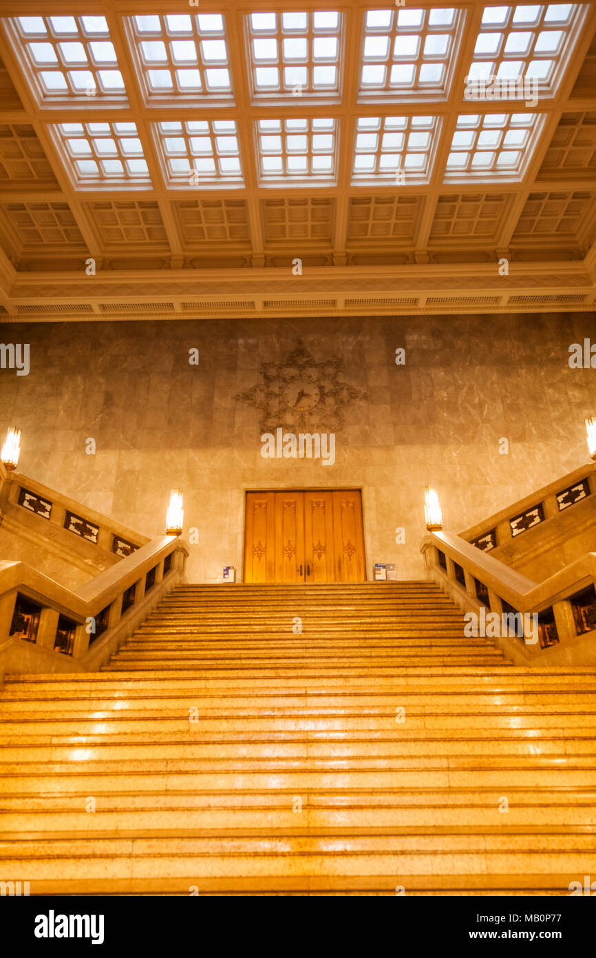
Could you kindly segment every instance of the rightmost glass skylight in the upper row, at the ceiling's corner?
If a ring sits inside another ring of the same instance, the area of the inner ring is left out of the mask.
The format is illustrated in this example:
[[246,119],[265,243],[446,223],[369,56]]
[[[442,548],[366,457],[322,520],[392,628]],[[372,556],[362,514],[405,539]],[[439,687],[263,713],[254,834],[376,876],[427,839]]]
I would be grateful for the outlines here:
[[532,80],[552,96],[584,19],[581,4],[485,7],[470,80]]

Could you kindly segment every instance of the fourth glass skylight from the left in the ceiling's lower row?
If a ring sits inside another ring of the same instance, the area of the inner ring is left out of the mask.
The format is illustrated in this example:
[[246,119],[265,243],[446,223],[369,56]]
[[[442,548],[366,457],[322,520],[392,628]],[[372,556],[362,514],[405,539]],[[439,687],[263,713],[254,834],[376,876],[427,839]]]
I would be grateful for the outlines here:
[[360,117],[352,182],[428,183],[439,130],[437,117]]

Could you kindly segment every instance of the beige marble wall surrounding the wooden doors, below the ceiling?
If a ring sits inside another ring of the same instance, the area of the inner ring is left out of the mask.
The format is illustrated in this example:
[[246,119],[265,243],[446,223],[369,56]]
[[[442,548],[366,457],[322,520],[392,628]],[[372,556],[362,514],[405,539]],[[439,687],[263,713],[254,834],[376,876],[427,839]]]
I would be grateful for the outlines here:
[[[378,561],[422,578],[425,484],[457,532],[587,460],[596,370],[568,365],[585,337],[594,313],[7,324],[31,372],[0,370],[0,431],[23,430],[19,471],[147,536],[180,486],[189,581],[241,576],[244,490],[307,487],[362,488],[369,578]],[[300,422],[297,375],[319,392]],[[335,431],[335,464],[262,458],[268,423]]]

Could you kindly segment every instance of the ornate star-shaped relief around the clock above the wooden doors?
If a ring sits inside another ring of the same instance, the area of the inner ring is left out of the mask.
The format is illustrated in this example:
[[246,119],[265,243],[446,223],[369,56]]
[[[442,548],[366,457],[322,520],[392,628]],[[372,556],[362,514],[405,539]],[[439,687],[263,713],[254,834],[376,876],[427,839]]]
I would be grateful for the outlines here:
[[338,432],[345,408],[367,399],[362,389],[343,379],[341,359],[318,362],[301,339],[281,362],[261,363],[260,376],[262,381],[234,399],[260,411],[261,432],[278,426],[295,432]]

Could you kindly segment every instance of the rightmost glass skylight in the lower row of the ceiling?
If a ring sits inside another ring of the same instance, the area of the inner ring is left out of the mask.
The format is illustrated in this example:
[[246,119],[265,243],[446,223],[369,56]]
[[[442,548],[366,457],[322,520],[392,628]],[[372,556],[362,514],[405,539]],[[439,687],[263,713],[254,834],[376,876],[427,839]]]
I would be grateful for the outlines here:
[[460,116],[447,159],[446,182],[519,180],[541,131],[541,113]]

